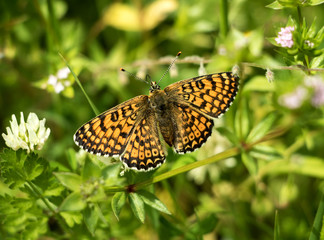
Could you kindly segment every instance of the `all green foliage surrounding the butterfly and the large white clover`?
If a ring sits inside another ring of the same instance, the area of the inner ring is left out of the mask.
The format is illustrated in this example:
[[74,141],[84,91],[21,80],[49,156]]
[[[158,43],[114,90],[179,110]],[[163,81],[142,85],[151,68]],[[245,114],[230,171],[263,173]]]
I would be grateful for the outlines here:
[[[51,135],[31,153],[0,141],[0,239],[323,239],[323,2],[3,1],[1,133],[23,111]],[[134,172],[75,146],[148,94],[120,67],[160,79],[178,51],[161,87],[240,67],[201,149]]]

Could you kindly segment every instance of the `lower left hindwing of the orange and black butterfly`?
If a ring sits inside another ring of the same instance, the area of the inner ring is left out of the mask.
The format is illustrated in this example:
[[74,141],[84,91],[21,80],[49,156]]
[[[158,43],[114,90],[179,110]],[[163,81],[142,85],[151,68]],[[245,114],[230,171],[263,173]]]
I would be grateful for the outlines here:
[[154,112],[148,109],[144,116],[136,125],[121,156],[129,168],[139,171],[152,170],[165,160]]

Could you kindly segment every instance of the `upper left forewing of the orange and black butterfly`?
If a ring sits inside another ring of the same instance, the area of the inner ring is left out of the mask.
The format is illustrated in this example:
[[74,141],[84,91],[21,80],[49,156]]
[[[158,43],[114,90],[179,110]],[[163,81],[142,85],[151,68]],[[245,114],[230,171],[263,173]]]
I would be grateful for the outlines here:
[[148,96],[137,96],[98,115],[77,130],[75,143],[99,156],[120,156],[148,107]]

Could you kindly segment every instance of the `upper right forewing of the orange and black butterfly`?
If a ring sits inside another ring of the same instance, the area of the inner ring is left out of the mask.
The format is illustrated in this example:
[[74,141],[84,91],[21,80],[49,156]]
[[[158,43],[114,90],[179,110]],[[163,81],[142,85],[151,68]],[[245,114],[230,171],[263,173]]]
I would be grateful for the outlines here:
[[164,89],[171,102],[191,106],[212,118],[218,118],[232,104],[239,78],[231,72],[215,73],[183,80]]

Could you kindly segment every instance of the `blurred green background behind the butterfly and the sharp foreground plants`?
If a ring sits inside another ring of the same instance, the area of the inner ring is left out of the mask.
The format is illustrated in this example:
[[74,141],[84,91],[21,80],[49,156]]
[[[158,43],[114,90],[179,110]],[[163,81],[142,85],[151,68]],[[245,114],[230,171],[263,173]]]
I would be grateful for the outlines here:
[[[323,189],[323,106],[310,104],[312,93],[296,109],[280,104],[281,96],[303,83],[302,71],[275,70],[273,82],[265,77],[266,68],[289,64],[268,38],[275,37],[289,16],[297,13],[295,9],[267,8],[271,1],[266,0],[228,1],[228,11],[224,12],[223,2],[0,2],[1,133],[9,126],[12,114],[24,112],[26,117],[35,112],[40,119],[46,118],[51,135],[41,155],[56,165],[68,168],[67,149],[78,150],[73,134],[95,116],[71,74],[62,80],[61,92],[49,84],[50,76],[57,76],[66,67],[58,53],[78,74],[100,112],[148,94],[148,85],[120,72],[120,67],[158,80],[170,59],[182,51],[161,82],[163,88],[197,76],[202,66],[207,73],[214,73],[230,71],[239,64],[240,95],[229,112],[216,120],[216,126],[228,128],[243,140],[273,111],[278,115],[273,128],[290,126],[283,137],[260,146],[259,155],[252,156],[258,163],[254,175],[241,157],[181,174],[159,184],[156,191],[174,218],[161,218],[159,226],[150,220],[142,225],[126,209],[122,221],[111,220],[110,230],[102,228],[94,238],[273,239],[276,209],[282,239],[308,238]],[[323,12],[323,4],[302,8],[306,22],[310,25],[316,18],[318,29],[324,23]],[[323,73],[321,78],[323,81]],[[248,117],[238,117],[244,114]],[[246,122],[238,123],[237,119]],[[169,149],[166,169],[229,148],[232,144],[221,135],[215,131],[203,149],[188,156],[178,156]],[[3,139],[0,147],[5,147]],[[208,224],[210,229],[202,227]],[[109,232],[107,238],[99,237],[105,231]]]

